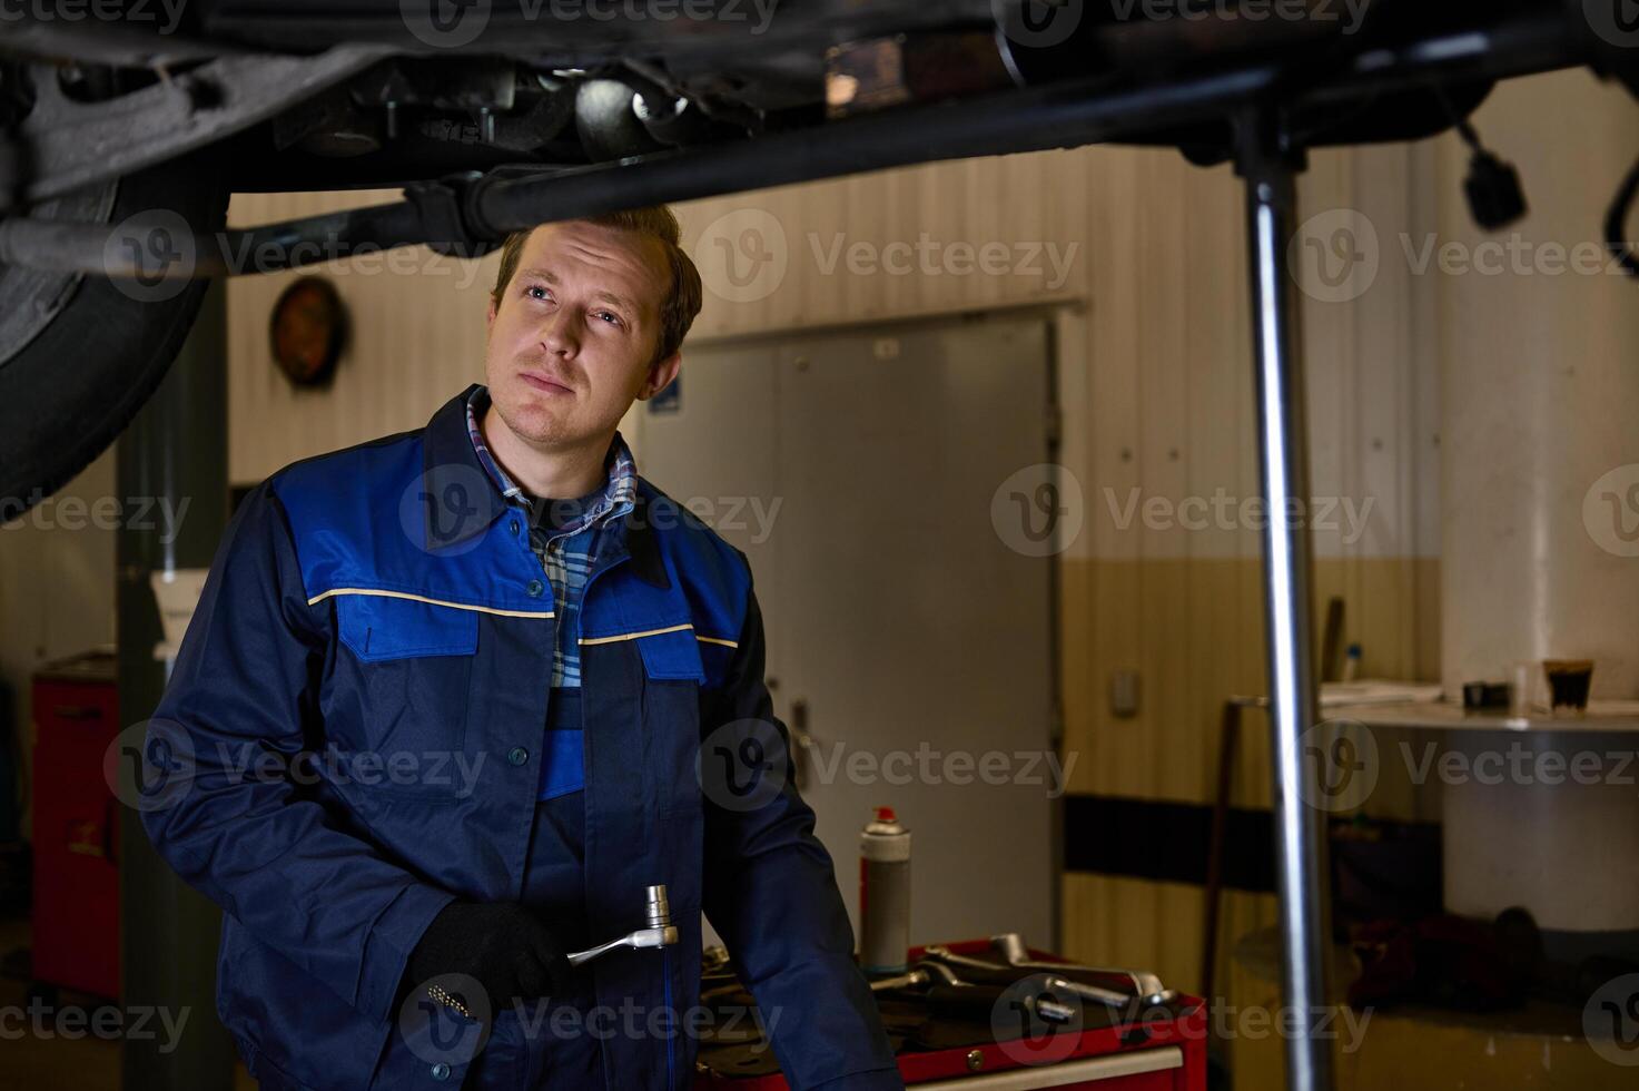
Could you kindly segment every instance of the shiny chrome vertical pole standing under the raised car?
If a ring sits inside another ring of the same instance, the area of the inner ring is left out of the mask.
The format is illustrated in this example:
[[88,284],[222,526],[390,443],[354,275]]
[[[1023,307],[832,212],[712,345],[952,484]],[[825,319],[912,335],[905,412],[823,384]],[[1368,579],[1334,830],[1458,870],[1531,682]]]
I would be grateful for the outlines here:
[[[1267,507],[1264,532],[1264,632],[1275,763],[1275,866],[1280,892],[1282,999],[1296,1027],[1287,1045],[1287,1086],[1331,1091],[1331,1040],[1316,1022],[1331,1004],[1326,840],[1321,812],[1301,791],[1305,733],[1316,722],[1311,619],[1310,451],[1305,428],[1296,285],[1287,244],[1296,230],[1301,153],[1285,146],[1272,113],[1239,126],[1239,174],[1247,187],[1252,258],[1252,326],[1257,366],[1259,469]],[[1277,1024],[1282,1025],[1282,1024]]]

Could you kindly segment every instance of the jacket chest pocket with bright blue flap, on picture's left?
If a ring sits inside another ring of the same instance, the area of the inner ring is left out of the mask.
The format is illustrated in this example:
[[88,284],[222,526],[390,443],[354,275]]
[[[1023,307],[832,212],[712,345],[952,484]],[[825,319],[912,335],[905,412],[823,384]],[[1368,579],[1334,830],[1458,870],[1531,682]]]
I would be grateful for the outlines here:
[[336,596],[336,630],[346,648],[338,658],[343,730],[392,771],[372,786],[452,791],[449,763],[465,745],[477,612],[346,594]]

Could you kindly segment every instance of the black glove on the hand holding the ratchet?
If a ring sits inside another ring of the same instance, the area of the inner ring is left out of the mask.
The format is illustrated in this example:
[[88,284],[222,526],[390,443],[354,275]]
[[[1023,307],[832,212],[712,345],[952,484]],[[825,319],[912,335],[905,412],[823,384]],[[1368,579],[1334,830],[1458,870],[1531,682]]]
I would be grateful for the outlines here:
[[490,1009],[500,1011],[513,997],[562,994],[570,970],[552,930],[518,902],[454,901],[433,917],[410,952],[398,1002],[441,973],[477,979],[488,994]]

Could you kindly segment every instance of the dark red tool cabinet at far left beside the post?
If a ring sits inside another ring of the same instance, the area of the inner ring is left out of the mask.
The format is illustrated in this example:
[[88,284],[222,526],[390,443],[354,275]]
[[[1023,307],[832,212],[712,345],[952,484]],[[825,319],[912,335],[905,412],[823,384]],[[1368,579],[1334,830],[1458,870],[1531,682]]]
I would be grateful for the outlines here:
[[34,986],[120,996],[120,806],[103,753],[120,733],[113,655],[34,674]]

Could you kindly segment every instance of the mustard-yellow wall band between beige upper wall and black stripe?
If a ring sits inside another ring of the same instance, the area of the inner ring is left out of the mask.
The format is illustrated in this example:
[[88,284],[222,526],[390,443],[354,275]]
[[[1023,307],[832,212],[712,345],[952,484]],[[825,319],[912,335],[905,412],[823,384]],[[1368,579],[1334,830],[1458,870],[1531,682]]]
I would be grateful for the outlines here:
[[[1365,651],[1364,678],[1434,678],[1437,599],[1429,558],[1323,558],[1316,641],[1331,594],[1344,596],[1344,641]],[[1078,561],[1062,568],[1065,748],[1075,792],[1210,804],[1219,717],[1231,696],[1264,681],[1262,568],[1257,559]],[[1128,622],[1131,619],[1131,622]],[[1429,641],[1429,637],[1434,641]],[[1139,712],[1110,712],[1110,678],[1142,671]],[[1233,802],[1267,807],[1267,722],[1249,712]]]

